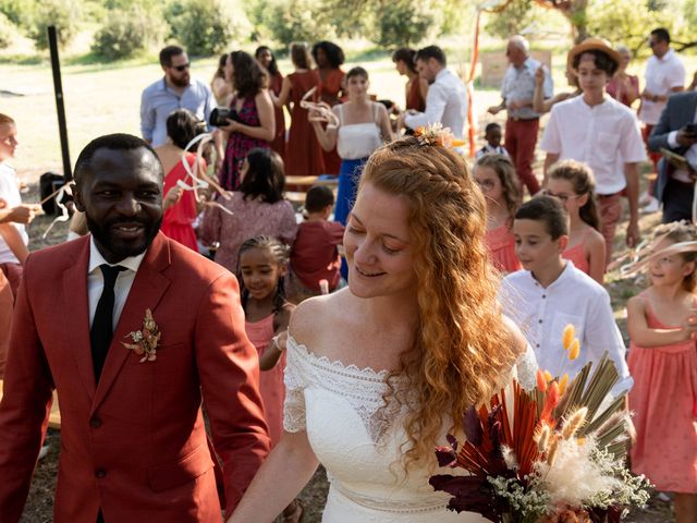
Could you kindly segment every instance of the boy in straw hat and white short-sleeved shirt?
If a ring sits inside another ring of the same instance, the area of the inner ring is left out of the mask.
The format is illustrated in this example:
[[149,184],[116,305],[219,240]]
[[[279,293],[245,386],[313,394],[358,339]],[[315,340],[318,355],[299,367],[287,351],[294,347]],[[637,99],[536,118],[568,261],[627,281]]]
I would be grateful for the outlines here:
[[606,239],[606,263],[612,255],[614,234],[622,216],[621,193],[629,203],[626,243],[639,240],[638,163],[646,150],[638,122],[631,109],[606,93],[621,57],[600,38],[588,38],[568,52],[568,69],[578,77],[583,94],[552,107],[540,147],[547,151],[545,184],[558,160],[583,161],[596,175],[598,208]]

